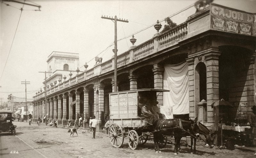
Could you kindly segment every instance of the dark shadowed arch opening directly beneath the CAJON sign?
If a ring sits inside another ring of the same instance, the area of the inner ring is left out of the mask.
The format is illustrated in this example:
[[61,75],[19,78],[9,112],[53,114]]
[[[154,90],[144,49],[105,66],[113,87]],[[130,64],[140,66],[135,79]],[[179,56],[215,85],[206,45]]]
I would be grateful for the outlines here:
[[[252,50],[228,45],[219,47],[219,50],[219,98],[235,105],[243,101],[250,109],[254,100],[254,89],[251,87],[255,82]],[[235,107],[229,111],[232,118],[228,119],[246,117],[243,112],[238,111],[238,106]]]

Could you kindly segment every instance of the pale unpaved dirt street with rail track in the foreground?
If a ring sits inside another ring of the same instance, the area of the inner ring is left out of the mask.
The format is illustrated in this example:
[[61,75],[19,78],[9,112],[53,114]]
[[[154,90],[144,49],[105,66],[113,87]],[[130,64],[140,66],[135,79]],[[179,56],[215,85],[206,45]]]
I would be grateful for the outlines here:
[[[198,154],[190,154],[190,147],[181,147],[183,151],[178,155],[173,154],[173,145],[166,145],[162,153],[155,153],[154,143],[147,142],[139,146],[136,150],[131,150],[124,138],[121,148],[112,147],[108,135],[96,133],[96,139],[92,139],[92,134],[84,136],[78,130],[78,136],[70,137],[68,129],[50,126],[28,126],[26,122],[14,122],[17,125],[16,136],[11,133],[0,133],[0,157],[47,157],[47,158],[165,158],[165,157],[195,157],[195,158],[252,158],[253,148],[236,147],[235,150],[220,150],[216,147],[205,148],[197,146]],[[13,153],[18,151],[17,153]],[[12,153],[11,153],[12,151]]]

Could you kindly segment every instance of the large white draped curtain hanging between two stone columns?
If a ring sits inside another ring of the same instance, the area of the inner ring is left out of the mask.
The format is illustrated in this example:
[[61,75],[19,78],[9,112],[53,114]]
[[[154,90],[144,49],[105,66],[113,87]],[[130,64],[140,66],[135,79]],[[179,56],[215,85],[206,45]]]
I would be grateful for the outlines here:
[[163,105],[172,106],[173,114],[189,113],[188,95],[188,63],[164,65]]

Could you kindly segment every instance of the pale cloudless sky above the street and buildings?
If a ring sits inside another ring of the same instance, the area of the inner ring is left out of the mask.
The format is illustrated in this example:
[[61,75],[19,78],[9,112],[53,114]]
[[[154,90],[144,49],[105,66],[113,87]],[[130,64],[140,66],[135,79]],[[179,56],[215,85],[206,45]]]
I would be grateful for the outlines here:
[[[78,53],[81,71],[84,70],[85,62],[89,65],[87,69],[92,68],[96,56],[102,57],[102,62],[109,60],[114,55],[114,45],[109,47],[114,42],[114,23],[102,19],[102,15],[116,15],[117,18],[129,21],[117,22],[117,39],[127,37],[117,42],[117,54],[121,54],[132,46],[129,40],[132,34],[137,39],[135,45],[151,39],[156,33],[154,27],[136,32],[195,2],[196,0],[26,1],[29,4],[41,5],[41,11],[33,11],[38,8],[29,5],[23,7],[23,4],[19,3],[0,2],[0,98],[4,98],[2,102],[7,101],[11,93],[15,97],[25,97],[25,85],[21,84],[21,81],[30,81],[27,85],[28,98],[35,96],[40,88],[43,89],[44,74],[39,71],[47,70],[46,61],[53,51]],[[256,13],[256,0],[214,0],[213,3]],[[19,9],[22,7],[21,13]],[[196,9],[191,7],[171,19],[180,24],[195,11]],[[164,26],[164,21],[161,24]]]

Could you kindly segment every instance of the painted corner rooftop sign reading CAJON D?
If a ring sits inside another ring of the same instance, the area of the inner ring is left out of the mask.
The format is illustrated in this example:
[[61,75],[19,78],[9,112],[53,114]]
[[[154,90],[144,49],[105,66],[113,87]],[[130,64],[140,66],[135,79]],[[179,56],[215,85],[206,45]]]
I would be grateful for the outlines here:
[[211,29],[253,35],[253,14],[211,4]]

